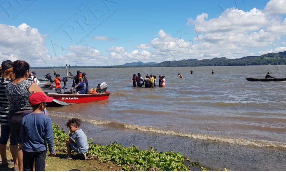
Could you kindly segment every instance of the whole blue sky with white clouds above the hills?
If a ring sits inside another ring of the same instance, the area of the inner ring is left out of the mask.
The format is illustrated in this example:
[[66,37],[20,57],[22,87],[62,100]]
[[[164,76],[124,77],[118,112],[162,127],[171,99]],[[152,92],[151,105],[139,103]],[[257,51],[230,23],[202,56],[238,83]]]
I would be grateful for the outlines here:
[[286,51],[286,0],[0,0],[0,62],[110,66]]

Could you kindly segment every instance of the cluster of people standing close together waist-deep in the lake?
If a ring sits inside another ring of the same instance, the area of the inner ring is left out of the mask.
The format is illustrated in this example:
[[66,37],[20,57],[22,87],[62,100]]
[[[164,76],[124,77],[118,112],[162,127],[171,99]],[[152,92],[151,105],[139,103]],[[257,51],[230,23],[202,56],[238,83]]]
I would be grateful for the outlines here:
[[[146,77],[143,79],[140,73],[133,74],[132,80],[133,80],[133,86],[136,87],[136,83],[138,87],[145,86],[146,88],[154,88],[156,87],[156,75],[146,75]],[[159,87],[165,87],[165,76],[159,75]]]

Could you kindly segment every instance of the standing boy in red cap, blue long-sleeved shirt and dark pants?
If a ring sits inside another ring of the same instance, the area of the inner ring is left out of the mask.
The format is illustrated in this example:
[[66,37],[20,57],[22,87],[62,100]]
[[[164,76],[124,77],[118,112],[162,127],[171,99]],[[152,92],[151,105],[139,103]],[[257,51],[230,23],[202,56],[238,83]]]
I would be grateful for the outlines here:
[[[51,156],[55,156],[53,145],[53,126],[51,118],[42,113],[46,102],[53,101],[42,92],[32,93],[29,103],[33,112],[24,116],[21,123],[21,139],[23,141],[23,168],[24,171],[45,171],[47,143]],[[47,142],[47,143],[46,143]]]

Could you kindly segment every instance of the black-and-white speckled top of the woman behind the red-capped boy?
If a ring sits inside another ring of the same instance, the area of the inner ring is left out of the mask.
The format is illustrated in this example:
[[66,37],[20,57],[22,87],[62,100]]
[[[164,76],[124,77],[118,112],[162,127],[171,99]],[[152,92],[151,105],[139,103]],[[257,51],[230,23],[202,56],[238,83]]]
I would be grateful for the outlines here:
[[33,110],[28,99],[31,95],[29,88],[33,81],[23,80],[17,84],[7,84],[5,94],[9,101],[9,110],[28,109]]

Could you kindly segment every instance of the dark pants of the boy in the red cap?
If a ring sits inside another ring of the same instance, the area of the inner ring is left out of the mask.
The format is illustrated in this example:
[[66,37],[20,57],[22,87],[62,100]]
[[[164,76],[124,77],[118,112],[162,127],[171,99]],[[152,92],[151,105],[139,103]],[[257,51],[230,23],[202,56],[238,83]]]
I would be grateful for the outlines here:
[[45,171],[45,160],[47,150],[41,152],[27,152],[23,150],[23,168],[24,171],[33,171],[35,162],[35,171]]

